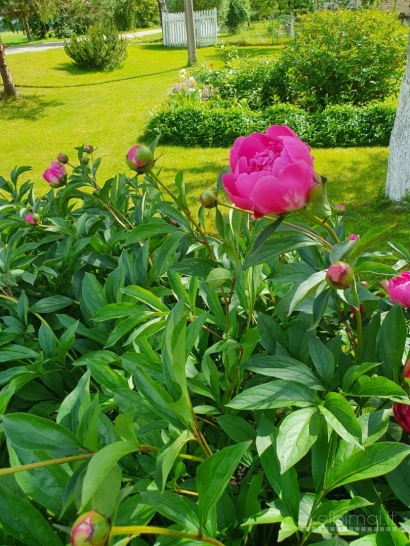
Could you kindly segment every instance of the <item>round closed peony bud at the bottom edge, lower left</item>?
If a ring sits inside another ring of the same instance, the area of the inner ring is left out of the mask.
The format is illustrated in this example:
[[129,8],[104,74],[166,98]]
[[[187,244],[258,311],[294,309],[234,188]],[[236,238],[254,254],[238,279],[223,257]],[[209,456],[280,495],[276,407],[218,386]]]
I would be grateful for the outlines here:
[[71,528],[71,546],[105,546],[110,530],[105,516],[95,510],[86,512],[75,520]]

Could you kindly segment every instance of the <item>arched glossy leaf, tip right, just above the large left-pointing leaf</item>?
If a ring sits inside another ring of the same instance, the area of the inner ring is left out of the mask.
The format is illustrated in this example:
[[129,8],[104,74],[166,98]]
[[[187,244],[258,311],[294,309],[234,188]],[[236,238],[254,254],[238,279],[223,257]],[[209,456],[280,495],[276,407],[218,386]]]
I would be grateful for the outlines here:
[[298,381],[311,389],[324,390],[315,373],[306,364],[290,356],[255,354],[242,364],[241,367],[253,373],[289,381]]

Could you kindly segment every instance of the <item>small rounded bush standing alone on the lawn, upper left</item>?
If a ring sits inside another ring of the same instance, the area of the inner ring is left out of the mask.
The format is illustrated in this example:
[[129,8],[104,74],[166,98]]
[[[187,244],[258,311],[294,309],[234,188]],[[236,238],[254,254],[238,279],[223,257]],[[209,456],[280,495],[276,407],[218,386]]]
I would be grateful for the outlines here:
[[74,36],[64,42],[64,50],[74,63],[85,70],[114,70],[127,58],[127,42],[110,22],[96,23],[87,36]]

